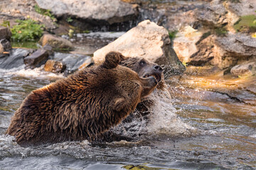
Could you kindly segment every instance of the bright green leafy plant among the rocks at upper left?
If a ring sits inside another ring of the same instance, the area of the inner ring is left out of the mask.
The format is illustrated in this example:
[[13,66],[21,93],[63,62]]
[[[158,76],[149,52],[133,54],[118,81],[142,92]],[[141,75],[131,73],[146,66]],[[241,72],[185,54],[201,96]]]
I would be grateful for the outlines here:
[[16,41],[33,41],[43,35],[43,25],[39,25],[36,21],[29,20],[16,20],[18,25],[11,28],[11,38]]

